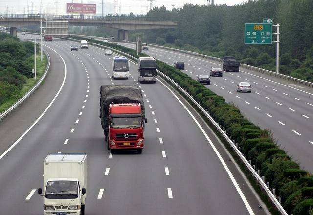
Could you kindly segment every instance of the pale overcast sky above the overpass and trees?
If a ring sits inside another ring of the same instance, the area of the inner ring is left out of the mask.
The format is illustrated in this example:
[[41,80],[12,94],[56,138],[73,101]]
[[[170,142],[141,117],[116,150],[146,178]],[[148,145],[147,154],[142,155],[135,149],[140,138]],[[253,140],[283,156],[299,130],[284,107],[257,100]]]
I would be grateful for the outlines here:
[[[246,2],[247,0],[214,0],[214,4],[235,5]],[[71,3],[72,0],[42,0],[42,13],[56,14],[56,2],[58,2],[58,14],[66,14],[66,3]],[[117,2],[117,3],[116,3]],[[33,14],[38,14],[40,11],[40,0],[0,0],[0,13],[16,13],[19,14],[31,13],[31,3],[33,3]],[[96,3],[97,14],[101,15],[101,0],[73,0],[73,3]],[[146,14],[150,9],[149,0],[103,0],[103,14]],[[192,4],[208,4],[207,0],[154,0],[152,6],[166,6],[171,9],[174,7],[181,7],[185,3]],[[28,6],[27,6],[28,5]],[[119,11],[117,11],[119,10]]]

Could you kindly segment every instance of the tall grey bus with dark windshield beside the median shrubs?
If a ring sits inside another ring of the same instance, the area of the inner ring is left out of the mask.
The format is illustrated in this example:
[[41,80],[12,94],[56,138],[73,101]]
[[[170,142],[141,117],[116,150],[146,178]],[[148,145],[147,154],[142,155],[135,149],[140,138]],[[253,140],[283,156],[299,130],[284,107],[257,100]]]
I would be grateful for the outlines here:
[[156,59],[153,57],[139,57],[138,82],[156,83]]

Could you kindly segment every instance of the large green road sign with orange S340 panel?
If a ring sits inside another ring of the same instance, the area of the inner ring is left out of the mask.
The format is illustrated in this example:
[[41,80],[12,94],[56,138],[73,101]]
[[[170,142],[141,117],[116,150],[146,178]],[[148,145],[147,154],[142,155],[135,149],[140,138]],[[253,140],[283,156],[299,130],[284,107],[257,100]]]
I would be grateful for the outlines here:
[[271,45],[273,25],[269,23],[246,23],[245,44],[247,45]]

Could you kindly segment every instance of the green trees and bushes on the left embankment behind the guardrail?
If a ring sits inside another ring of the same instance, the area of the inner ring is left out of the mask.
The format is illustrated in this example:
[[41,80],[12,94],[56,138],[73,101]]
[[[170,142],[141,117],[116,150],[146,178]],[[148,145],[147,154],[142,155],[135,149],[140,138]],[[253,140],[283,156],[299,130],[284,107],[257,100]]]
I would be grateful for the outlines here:
[[28,78],[33,76],[34,44],[0,33],[0,105],[16,100]]

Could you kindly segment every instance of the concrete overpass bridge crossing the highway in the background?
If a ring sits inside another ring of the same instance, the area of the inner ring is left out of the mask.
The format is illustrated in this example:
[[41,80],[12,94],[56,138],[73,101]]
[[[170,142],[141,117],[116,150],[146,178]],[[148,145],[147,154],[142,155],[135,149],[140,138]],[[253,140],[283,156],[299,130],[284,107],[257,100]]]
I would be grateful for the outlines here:
[[[11,34],[17,27],[39,25],[40,20],[68,21],[72,26],[103,26],[118,29],[118,39],[128,40],[129,30],[175,28],[176,22],[146,16],[90,16],[90,15],[51,15],[51,14],[8,14],[0,19],[0,26],[10,27]],[[15,32],[15,33],[14,33]]]

